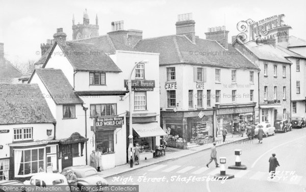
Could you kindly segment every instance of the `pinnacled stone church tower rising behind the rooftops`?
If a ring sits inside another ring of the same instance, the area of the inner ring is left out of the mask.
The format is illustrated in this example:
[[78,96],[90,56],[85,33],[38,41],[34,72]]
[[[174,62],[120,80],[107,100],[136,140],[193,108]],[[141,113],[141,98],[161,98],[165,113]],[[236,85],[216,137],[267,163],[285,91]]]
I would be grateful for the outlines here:
[[85,39],[99,36],[98,15],[96,15],[96,23],[89,24],[89,16],[87,9],[83,14],[83,24],[75,24],[74,15],[72,17],[72,40]]

